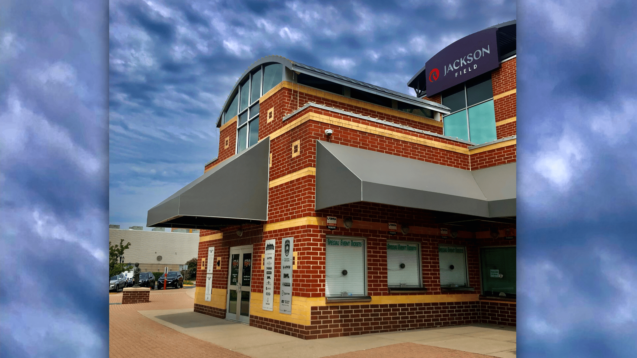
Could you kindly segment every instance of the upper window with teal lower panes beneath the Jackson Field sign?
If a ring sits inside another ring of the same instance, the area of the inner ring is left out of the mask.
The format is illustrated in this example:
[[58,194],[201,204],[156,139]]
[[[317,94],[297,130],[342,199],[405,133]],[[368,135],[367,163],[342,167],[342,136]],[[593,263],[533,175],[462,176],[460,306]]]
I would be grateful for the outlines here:
[[451,109],[443,118],[445,136],[475,144],[497,139],[490,73],[443,91],[442,104]]

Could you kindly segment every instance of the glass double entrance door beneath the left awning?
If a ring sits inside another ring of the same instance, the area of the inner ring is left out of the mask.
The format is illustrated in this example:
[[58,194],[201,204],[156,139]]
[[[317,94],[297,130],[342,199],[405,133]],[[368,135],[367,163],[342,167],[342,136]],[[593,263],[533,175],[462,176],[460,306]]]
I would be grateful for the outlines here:
[[250,323],[252,245],[230,248],[230,269],[225,318]]

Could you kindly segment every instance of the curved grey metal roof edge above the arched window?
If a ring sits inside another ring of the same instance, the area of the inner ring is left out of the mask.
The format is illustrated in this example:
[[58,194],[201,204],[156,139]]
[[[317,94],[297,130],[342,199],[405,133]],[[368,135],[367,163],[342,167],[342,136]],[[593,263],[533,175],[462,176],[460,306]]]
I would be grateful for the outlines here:
[[[383,96],[383,97],[387,97],[390,99],[396,99],[396,101],[401,101],[404,103],[409,103],[409,104],[415,104],[416,106],[422,106],[423,108],[428,108],[430,110],[434,110],[434,111],[438,111],[441,113],[449,113],[449,108],[446,106],[443,106],[440,103],[435,103],[432,101],[428,101],[426,99],[422,99],[419,97],[415,97],[415,96],[410,96],[409,94],[404,94],[401,92],[397,92],[395,90],[390,90],[390,89],[386,89],[384,87],[380,87],[380,86],[376,86],[376,85],[372,85],[371,83],[366,83],[366,82],[362,82],[359,80],[354,80],[353,78],[349,78],[349,77],[345,77],[345,76],[341,76],[338,75],[336,73],[332,73],[329,71],[325,71],[323,69],[319,69],[319,68],[315,68],[312,66],[308,66],[306,64],[302,64],[300,62],[295,62],[292,61],[290,59],[287,59],[283,56],[280,55],[270,55],[270,56],[266,56],[266,57],[262,57],[261,59],[259,59],[259,61],[254,62],[252,65],[250,65],[250,67],[248,69],[246,69],[243,74],[239,77],[239,79],[237,80],[236,83],[234,83],[233,89],[230,91],[230,94],[228,95],[227,99],[225,100],[224,106],[222,107],[221,113],[219,114],[219,117],[217,118],[217,127],[221,126],[221,117],[222,117],[222,113],[223,111],[226,110],[227,106],[230,103],[230,99],[232,98],[233,94],[236,93],[236,91],[238,90],[239,84],[245,80],[245,77],[254,69],[257,68],[258,66],[261,66],[262,64],[268,64],[268,63],[280,63],[283,64],[283,66],[289,68],[292,71],[296,71],[299,73],[304,73],[306,75],[310,75],[310,76],[315,76],[317,78],[321,78],[323,80],[327,80],[330,82],[334,82],[334,83],[338,83],[340,85],[345,85],[354,89],[358,89],[358,90],[362,90],[364,92],[368,92],[371,94],[377,94],[378,96]],[[285,71],[283,71],[283,80],[286,80],[285,78]],[[289,79],[291,80],[291,79]]]

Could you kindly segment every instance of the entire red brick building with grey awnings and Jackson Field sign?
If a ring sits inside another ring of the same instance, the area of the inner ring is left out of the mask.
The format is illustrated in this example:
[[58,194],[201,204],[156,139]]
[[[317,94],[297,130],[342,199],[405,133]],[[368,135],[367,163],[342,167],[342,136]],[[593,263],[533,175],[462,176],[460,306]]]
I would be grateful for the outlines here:
[[252,64],[217,159],[148,211],[201,229],[194,310],[304,339],[515,326],[515,54],[515,21],[466,36],[417,97]]

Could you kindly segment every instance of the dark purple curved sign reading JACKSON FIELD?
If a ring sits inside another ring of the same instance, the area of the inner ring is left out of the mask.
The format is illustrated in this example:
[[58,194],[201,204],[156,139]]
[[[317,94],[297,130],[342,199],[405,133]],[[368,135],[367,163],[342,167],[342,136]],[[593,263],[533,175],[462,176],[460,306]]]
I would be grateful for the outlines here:
[[485,29],[455,41],[425,64],[427,97],[499,66],[497,29]]

